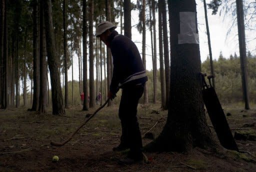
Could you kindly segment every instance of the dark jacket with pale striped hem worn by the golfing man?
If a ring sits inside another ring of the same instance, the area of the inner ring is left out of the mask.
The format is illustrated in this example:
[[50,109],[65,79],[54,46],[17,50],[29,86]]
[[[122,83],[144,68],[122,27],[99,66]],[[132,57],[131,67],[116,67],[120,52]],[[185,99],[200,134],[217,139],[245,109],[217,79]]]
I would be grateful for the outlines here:
[[115,94],[119,88],[144,84],[147,76],[134,42],[115,30],[111,32],[108,41],[113,58],[110,92]]

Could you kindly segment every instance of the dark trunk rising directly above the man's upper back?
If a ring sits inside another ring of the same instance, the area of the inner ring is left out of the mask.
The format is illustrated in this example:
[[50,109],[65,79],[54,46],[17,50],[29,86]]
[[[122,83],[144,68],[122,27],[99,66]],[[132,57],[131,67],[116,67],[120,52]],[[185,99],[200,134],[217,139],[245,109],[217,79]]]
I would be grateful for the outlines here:
[[131,39],[131,20],[130,20],[131,5],[130,0],[123,0],[123,29],[124,36]]

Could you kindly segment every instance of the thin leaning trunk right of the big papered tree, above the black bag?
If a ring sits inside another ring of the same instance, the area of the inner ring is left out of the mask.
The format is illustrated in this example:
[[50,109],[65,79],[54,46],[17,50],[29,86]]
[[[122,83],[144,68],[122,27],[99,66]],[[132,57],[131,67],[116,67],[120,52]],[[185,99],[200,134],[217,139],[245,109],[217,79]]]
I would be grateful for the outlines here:
[[[205,0],[203,0],[203,6],[204,6],[204,17],[205,17],[205,24],[206,24],[206,31],[207,31],[207,38],[208,38],[209,57],[210,57],[210,74],[212,76],[214,76],[214,68],[213,68],[211,45],[210,45],[210,32],[209,32],[208,17],[207,17],[207,7],[206,7]],[[214,79],[214,77],[212,78],[212,86],[215,89],[215,79]]]

